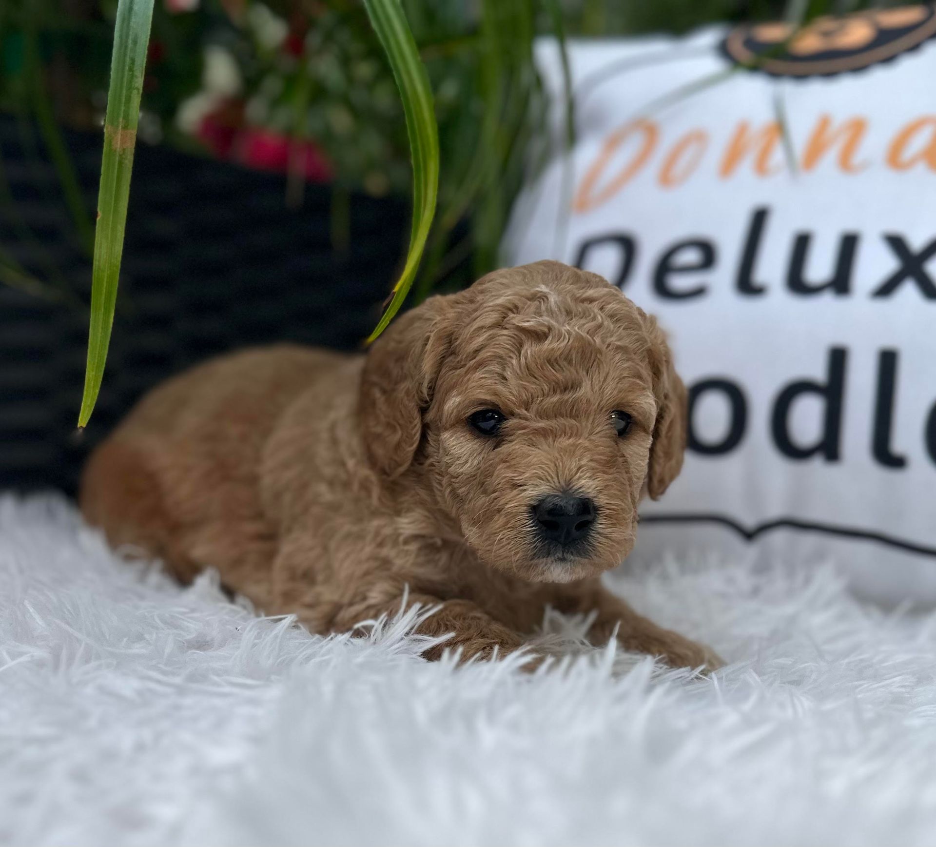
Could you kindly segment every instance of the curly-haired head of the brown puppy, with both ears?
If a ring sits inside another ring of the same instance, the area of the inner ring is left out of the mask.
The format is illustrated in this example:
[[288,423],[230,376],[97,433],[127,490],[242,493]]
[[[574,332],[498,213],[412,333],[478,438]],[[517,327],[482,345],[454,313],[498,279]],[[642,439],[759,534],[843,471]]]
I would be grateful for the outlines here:
[[565,582],[630,552],[680,471],[685,388],[656,321],[593,273],[498,270],[373,344],[358,416],[378,473],[423,489],[482,562]]

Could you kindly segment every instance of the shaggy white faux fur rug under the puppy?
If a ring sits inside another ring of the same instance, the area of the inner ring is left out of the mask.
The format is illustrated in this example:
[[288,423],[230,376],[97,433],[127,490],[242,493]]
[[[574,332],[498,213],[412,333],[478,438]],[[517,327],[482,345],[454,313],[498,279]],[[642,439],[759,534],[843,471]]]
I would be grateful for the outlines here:
[[577,646],[456,668],[411,617],[308,635],[0,498],[0,841],[932,844],[936,618],[831,567],[664,562],[612,585],[731,664]]

